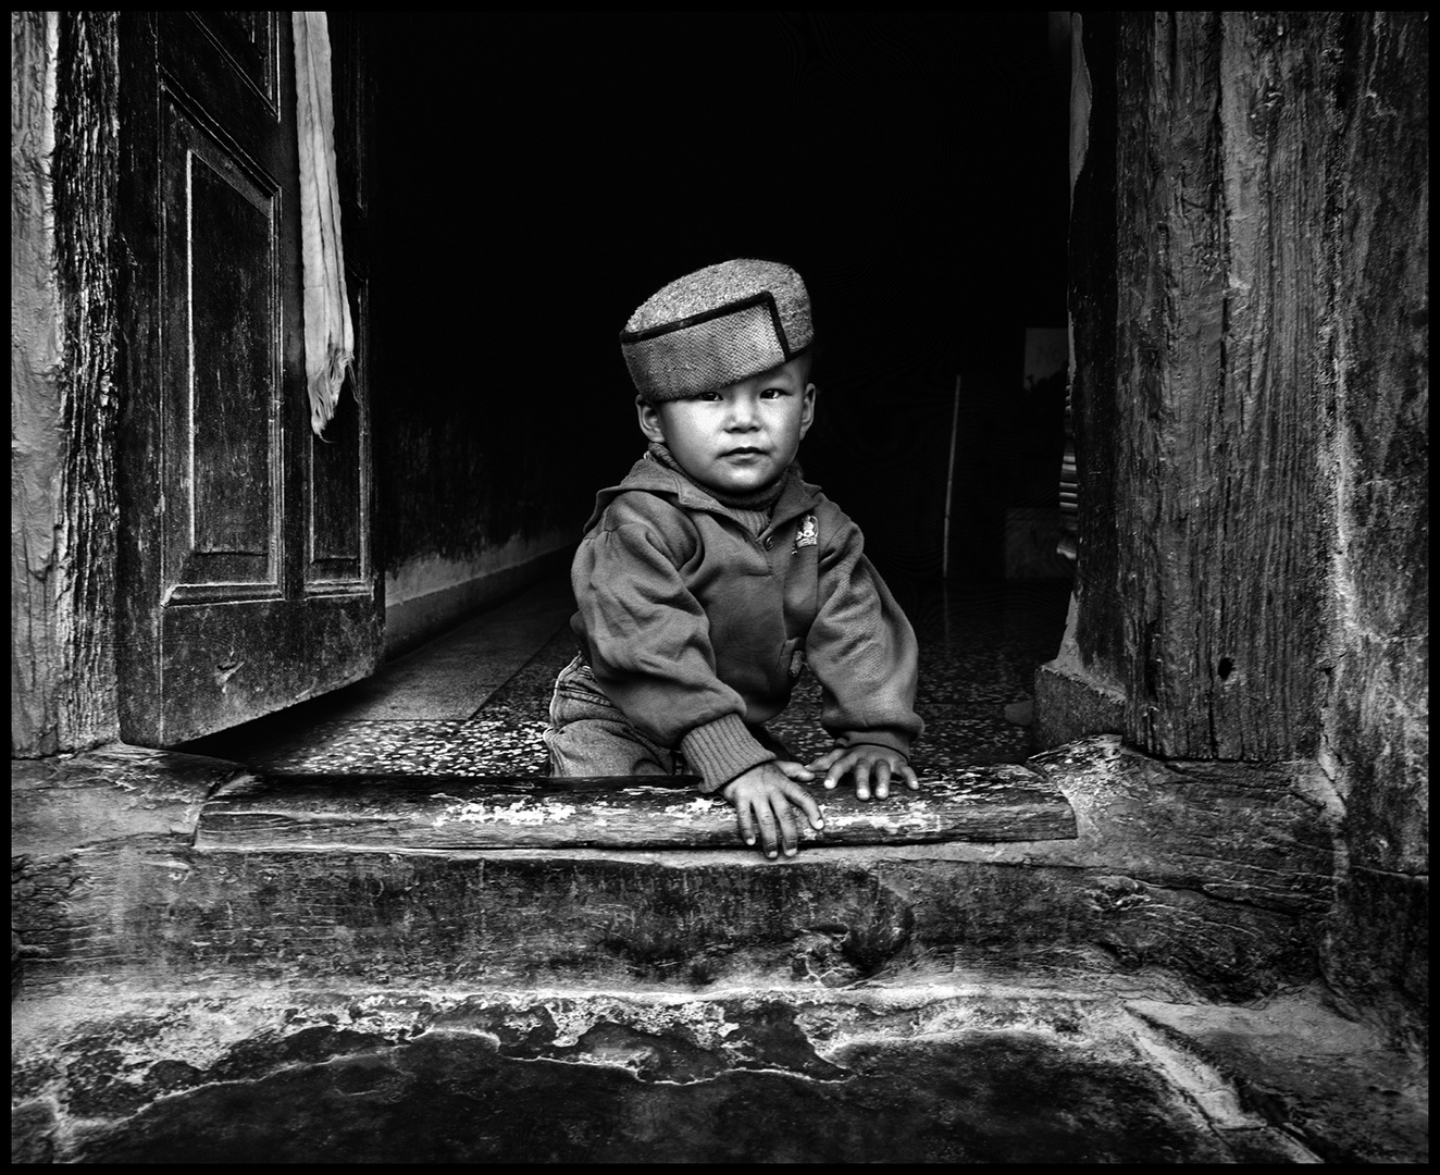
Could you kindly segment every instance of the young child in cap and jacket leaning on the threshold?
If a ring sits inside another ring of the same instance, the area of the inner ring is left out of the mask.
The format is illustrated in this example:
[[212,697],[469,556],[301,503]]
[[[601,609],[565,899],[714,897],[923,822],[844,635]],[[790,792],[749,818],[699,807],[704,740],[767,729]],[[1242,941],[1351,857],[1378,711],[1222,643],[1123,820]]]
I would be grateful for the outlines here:
[[[770,858],[796,852],[796,812],[824,827],[802,786],[818,772],[825,788],[852,775],[860,799],[920,786],[914,634],[860,528],[795,464],[812,341],[805,284],[776,262],[711,265],[631,315],[621,350],[649,445],[576,552],[580,654],[544,736],[554,775],[700,775]],[[802,766],[765,723],[805,665],[834,747]]]

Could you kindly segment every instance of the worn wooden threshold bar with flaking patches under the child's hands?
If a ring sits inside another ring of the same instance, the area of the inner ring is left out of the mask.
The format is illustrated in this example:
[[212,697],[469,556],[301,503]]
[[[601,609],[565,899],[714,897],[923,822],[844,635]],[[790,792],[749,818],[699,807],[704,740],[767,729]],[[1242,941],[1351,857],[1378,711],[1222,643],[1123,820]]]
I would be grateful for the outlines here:
[[[956,772],[920,792],[857,801],[816,789],[825,845],[1031,841],[1074,835],[1058,789],[1018,765]],[[733,809],[635,779],[249,776],[204,808],[197,848],[734,848]]]

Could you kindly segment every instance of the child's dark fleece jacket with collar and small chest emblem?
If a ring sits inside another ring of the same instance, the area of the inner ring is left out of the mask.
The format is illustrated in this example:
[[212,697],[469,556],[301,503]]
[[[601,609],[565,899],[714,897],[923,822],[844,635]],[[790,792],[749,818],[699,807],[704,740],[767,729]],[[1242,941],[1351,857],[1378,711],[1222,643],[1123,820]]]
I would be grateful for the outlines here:
[[596,495],[570,575],[596,684],[706,792],[776,757],[752,729],[806,665],[838,746],[909,759],[924,727],[914,632],[860,528],[798,475],[759,534],[753,518],[651,459]]

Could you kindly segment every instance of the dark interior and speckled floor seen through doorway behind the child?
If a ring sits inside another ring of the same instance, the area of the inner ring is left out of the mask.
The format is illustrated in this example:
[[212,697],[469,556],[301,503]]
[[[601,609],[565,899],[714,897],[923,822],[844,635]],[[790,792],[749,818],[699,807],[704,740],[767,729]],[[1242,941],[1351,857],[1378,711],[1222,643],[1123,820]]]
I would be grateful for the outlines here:
[[[1063,373],[1025,377],[1027,330],[1066,321],[1068,45],[1047,14],[419,13],[380,29],[387,570],[556,526],[577,539],[641,452],[616,343],[631,310],[691,268],[780,258],[819,325],[801,459],[922,634],[932,756],[1024,759],[1004,707],[1058,648],[1068,575],[1050,528],[1014,523],[1056,514],[1064,444]],[[1031,549],[1018,572],[1007,541]],[[570,655],[563,593],[552,576],[377,680],[189,749],[291,770],[540,769],[544,694]],[[516,615],[526,635],[507,635]],[[802,691],[798,744],[816,713]]]

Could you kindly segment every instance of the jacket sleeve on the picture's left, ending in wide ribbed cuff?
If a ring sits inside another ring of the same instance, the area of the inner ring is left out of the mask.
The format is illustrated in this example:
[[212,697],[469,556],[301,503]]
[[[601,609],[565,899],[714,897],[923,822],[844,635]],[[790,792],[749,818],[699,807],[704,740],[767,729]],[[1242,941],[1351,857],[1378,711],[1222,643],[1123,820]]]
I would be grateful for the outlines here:
[[616,504],[580,543],[572,586],[595,680],[645,736],[678,746],[714,792],[775,759],[716,677],[710,625],[680,575],[678,534]]

